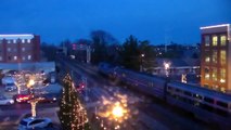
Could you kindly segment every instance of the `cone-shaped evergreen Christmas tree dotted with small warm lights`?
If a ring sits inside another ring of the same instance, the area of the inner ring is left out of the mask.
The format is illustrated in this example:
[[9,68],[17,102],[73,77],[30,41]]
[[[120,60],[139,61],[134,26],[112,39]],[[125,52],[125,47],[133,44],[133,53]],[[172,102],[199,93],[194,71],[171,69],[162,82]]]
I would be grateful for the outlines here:
[[89,129],[87,113],[77,96],[73,80],[68,74],[63,79],[63,93],[59,115],[64,130]]

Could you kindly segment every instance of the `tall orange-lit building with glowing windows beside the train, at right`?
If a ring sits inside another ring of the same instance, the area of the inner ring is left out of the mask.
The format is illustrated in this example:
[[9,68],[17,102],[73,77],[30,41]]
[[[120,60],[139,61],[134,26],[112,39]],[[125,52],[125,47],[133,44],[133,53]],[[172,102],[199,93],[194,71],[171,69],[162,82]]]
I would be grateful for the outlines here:
[[201,27],[201,84],[231,92],[231,26]]

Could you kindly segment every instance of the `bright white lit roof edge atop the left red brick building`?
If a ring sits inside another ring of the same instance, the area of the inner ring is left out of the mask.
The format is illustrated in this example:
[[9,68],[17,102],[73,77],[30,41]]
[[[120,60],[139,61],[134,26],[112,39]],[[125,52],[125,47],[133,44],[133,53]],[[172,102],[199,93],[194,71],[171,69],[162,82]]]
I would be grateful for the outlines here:
[[33,39],[34,35],[31,34],[24,34],[24,35],[0,35],[0,40],[2,39]]

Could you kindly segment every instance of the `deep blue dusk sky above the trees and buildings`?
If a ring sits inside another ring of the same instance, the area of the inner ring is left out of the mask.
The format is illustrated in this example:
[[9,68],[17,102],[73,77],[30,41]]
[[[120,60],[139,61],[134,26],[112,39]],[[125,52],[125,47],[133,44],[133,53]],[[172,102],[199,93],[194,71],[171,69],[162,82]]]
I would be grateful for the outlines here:
[[200,42],[200,27],[231,23],[231,0],[1,0],[0,34],[37,34],[49,43],[102,29],[124,42]]

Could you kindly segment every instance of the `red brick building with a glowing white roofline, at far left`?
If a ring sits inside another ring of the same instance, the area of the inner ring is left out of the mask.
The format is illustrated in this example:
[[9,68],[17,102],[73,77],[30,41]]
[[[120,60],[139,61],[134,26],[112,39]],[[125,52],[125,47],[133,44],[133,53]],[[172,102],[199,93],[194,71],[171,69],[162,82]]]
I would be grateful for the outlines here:
[[0,63],[31,63],[39,61],[39,36],[0,35]]

